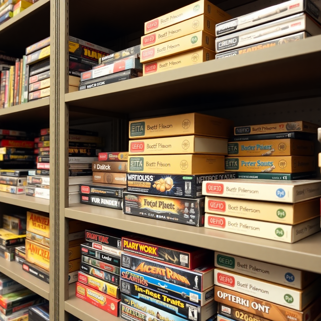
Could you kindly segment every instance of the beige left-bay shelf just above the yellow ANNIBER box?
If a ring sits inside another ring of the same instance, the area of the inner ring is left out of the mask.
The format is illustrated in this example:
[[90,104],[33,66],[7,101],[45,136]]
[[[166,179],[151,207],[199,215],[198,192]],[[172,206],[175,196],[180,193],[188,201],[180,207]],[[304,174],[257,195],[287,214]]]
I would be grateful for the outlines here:
[[49,200],[39,197],[0,192],[0,202],[49,213]]

